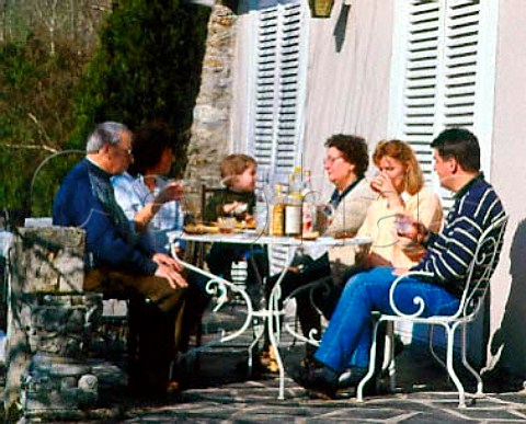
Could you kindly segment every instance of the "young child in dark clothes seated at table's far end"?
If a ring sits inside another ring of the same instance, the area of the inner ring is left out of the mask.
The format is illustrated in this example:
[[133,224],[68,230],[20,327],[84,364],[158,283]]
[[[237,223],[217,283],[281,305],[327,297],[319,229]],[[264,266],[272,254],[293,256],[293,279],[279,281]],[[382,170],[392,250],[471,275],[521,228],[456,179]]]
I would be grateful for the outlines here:
[[[215,193],[205,206],[204,220],[217,221],[220,217],[250,220],[255,207],[255,180],[258,163],[254,158],[235,153],[221,164],[221,181],[225,188]],[[247,261],[247,293],[254,310],[261,309],[263,278],[268,275],[266,250],[259,244],[214,243],[206,256],[210,272],[231,280],[233,262]]]

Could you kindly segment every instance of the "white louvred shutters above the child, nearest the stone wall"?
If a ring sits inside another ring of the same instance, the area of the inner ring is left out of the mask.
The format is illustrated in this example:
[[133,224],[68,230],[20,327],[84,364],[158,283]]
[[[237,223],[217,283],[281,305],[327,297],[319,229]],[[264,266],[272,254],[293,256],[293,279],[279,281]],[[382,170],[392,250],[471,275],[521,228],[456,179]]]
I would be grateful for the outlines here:
[[[291,1],[262,9],[258,15],[255,104],[249,124],[253,138],[249,146],[254,149],[259,177],[270,175],[270,183],[285,185],[302,150],[306,11],[299,1]],[[286,263],[288,251],[274,248],[270,254],[271,273],[276,273]]]

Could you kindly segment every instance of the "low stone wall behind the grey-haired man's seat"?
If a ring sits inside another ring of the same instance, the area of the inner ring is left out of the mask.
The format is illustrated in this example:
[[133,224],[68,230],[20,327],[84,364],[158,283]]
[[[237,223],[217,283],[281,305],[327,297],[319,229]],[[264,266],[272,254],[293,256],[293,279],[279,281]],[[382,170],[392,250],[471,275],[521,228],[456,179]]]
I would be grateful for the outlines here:
[[84,419],[98,408],[99,378],[88,347],[103,313],[83,293],[83,230],[19,228],[9,270],[4,412],[8,422]]

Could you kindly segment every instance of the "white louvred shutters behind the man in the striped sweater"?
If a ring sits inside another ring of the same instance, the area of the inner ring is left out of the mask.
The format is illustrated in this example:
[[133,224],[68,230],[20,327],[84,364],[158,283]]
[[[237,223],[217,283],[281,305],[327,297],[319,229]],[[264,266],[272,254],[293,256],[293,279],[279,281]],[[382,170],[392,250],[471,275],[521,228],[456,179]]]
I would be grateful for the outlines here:
[[[396,18],[402,33],[395,35],[389,131],[414,148],[426,182],[446,208],[453,197],[438,187],[433,172],[433,138],[446,127],[465,127],[479,137],[484,158],[491,150],[485,116],[493,105],[493,90],[481,84],[482,80],[493,83],[488,75],[494,69],[495,27],[483,25],[494,12],[490,3],[494,2],[412,0]],[[483,164],[489,174],[489,161]]]

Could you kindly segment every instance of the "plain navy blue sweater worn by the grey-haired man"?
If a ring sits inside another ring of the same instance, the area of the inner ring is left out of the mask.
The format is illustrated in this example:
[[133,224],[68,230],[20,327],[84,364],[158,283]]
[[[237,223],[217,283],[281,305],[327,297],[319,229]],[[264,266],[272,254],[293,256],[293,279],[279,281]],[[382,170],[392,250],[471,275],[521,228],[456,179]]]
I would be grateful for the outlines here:
[[95,196],[90,174],[113,190],[111,174],[89,160],[79,162],[66,175],[53,204],[53,224],[62,227],[78,227],[85,230],[88,267],[103,266],[111,270],[153,275],[158,265],[147,251],[123,233],[104,210]]

